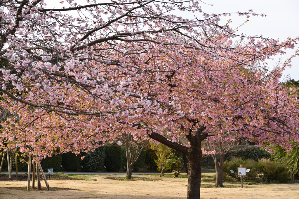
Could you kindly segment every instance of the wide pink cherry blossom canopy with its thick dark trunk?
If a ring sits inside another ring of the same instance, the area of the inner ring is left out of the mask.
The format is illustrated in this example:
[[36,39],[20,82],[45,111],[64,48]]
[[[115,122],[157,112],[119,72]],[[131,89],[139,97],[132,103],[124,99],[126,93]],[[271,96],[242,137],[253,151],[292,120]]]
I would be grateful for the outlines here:
[[58,9],[42,0],[0,3],[1,106],[19,117],[2,123],[1,148],[79,153],[126,128],[186,154],[191,199],[200,198],[208,137],[298,143],[298,99],[279,83],[290,60],[266,66],[298,38],[236,35],[219,22],[234,13],[209,15],[195,0],[66,2]]

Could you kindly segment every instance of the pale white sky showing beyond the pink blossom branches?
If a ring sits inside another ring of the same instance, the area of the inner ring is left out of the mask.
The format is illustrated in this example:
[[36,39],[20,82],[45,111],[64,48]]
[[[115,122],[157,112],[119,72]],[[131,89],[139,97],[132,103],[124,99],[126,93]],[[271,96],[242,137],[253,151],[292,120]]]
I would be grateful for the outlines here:
[[[101,0],[100,0],[101,1]],[[99,1],[99,2],[100,2]],[[286,38],[295,38],[299,36],[299,0],[202,0],[206,5],[201,3],[202,10],[208,14],[220,14],[228,12],[247,12],[252,9],[257,14],[266,14],[266,17],[251,16],[249,22],[239,27],[239,34],[244,35],[263,35],[264,38],[279,38],[280,41],[284,41]],[[59,1],[45,1],[48,6],[46,8],[60,8]],[[79,5],[86,5],[84,0],[75,0]],[[66,7],[68,4],[66,4]],[[69,13],[71,14],[71,13]],[[73,14],[73,13],[72,13]],[[181,14],[181,13],[180,13]],[[178,13],[178,15],[180,15]],[[193,13],[190,15],[184,12],[183,18],[193,18]],[[220,24],[226,24],[228,19],[232,19],[230,26],[232,28],[238,27],[247,18],[246,16],[231,15],[222,17]],[[299,44],[295,46],[295,49],[299,47]],[[286,50],[286,55],[282,56],[282,61],[289,58],[294,54],[295,49]],[[271,68],[276,65],[275,63],[279,60],[280,56],[272,57],[274,61],[268,61],[268,66]],[[299,80],[299,57],[292,60],[292,67],[287,68],[284,71],[284,76],[289,75],[291,79]]]

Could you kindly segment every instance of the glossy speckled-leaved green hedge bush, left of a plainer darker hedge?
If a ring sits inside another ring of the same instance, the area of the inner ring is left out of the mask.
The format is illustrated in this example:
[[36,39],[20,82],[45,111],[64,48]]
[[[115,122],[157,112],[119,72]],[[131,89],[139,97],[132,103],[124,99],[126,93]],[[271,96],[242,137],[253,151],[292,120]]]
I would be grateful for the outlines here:
[[105,146],[94,149],[94,152],[81,153],[84,159],[80,162],[83,170],[88,172],[98,172],[104,170]]

